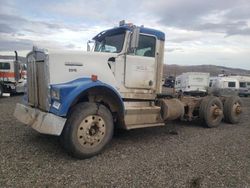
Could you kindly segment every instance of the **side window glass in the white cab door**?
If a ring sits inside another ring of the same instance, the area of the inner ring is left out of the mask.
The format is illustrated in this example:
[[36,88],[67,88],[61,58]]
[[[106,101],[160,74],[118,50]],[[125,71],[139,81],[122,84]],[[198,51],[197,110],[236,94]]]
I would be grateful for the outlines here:
[[140,35],[139,46],[135,51],[135,55],[145,57],[155,57],[156,39],[153,36]]

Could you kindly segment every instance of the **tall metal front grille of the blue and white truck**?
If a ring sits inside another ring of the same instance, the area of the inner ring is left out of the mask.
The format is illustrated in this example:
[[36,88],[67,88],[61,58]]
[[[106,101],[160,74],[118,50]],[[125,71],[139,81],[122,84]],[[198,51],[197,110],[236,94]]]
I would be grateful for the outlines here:
[[31,106],[49,110],[48,54],[33,49],[27,55],[27,95]]

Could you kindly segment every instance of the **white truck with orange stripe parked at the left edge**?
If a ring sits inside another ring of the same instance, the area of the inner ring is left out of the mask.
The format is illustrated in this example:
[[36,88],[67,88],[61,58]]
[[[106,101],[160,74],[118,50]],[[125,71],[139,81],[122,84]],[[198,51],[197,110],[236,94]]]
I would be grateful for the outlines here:
[[24,93],[27,79],[27,66],[15,60],[0,59],[0,97],[6,94]]

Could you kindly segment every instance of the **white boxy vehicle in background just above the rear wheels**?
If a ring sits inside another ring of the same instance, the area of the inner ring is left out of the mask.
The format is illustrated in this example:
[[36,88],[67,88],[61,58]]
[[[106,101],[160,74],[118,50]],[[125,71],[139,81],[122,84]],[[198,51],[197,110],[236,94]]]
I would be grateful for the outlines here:
[[184,95],[205,96],[209,86],[209,73],[186,72],[175,79],[175,90]]

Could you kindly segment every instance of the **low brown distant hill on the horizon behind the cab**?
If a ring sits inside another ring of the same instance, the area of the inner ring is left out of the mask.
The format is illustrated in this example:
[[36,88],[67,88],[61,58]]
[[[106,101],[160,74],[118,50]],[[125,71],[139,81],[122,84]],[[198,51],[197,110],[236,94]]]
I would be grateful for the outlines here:
[[164,64],[163,75],[175,76],[180,75],[184,72],[207,72],[210,76],[217,76],[218,74],[228,74],[228,75],[249,75],[250,70],[229,68],[216,65],[192,65],[192,66],[181,66],[181,65],[166,65]]

